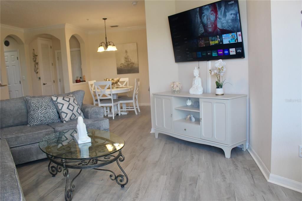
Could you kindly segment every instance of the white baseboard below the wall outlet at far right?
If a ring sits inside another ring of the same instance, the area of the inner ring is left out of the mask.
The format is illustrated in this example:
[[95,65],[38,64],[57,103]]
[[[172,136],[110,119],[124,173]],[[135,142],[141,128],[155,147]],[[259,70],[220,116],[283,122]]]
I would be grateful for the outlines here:
[[268,182],[302,193],[302,183],[275,174],[269,175]]

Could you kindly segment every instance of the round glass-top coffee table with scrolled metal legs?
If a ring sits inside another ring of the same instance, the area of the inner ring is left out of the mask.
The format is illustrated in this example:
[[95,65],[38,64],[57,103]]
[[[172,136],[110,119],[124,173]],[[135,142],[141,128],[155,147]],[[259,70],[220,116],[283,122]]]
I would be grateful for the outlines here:
[[[45,136],[39,142],[40,149],[46,153],[50,162],[48,164],[48,171],[53,177],[62,171],[63,176],[66,177],[65,186],[65,200],[72,199],[72,193],[75,190],[73,181],[83,169],[95,169],[101,171],[111,172],[110,179],[115,180],[122,188],[128,183],[128,177],[119,161],[125,160],[122,155],[122,148],[125,141],[119,136],[103,130],[88,129],[88,136],[91,142],[78,144],[74,138],[77,130],[67,130],[62,132],[55,132]],[[116,175],[113,171],[107,169],[100,169],[104,165],[110,163],[117,163],[123,174]],[[53,163],[53,165],[51,165]],[[74,177],[70,183],[69,188],[69,171],[68,169],[80,169],[79,173]]]

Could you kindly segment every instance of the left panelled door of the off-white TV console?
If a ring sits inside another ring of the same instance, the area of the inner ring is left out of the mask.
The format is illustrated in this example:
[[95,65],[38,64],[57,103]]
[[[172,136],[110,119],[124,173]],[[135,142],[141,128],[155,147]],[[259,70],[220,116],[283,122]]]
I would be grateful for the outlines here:
[[172,97],[154,95],[155,127],[172,131]]

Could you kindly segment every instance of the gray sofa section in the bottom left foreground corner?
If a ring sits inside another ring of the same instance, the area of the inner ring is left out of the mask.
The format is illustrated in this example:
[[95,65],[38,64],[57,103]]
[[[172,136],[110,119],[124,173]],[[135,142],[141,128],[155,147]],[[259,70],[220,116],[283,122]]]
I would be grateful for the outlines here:
[[17,173],[17,168],[14,164],[11,151],[5,139],[0,140],[0,169],[1,169],[1,201],[3,200],[25,200],[20,180]]

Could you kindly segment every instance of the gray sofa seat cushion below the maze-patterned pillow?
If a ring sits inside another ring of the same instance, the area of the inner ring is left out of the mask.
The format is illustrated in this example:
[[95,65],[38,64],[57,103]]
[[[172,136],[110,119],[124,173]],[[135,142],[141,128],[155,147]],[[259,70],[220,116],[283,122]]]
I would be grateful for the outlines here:
[[32,144],[54,132],[53,128],[48,125],[39,126],[12,126],[2,128],[1,139],[6,139],[9,147]]

